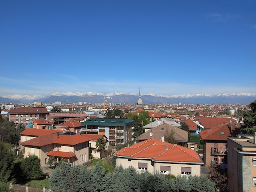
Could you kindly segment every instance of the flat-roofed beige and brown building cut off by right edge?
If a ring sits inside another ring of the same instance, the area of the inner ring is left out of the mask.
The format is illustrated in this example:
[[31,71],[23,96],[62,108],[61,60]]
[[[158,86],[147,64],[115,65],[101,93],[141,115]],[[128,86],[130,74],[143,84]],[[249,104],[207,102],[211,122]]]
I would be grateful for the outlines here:
[[256,132],[254,136],[227,138],[228,188],[231,192],[256,192]]

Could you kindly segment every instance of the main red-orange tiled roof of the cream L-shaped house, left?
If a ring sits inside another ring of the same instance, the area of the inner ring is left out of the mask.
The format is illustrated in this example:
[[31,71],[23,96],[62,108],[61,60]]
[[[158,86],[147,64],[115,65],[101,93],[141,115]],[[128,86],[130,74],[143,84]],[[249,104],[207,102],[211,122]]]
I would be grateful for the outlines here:
[[79,143],[84,143],[90,140],[91,139],[86,136],[81,136],[80,134],[69,134],[69,132],[67,132],[65,134],[54,133],[38,136],[36,138],[32,138],[28,141],[25,141],[21,144],[36,147],[41,147],[52,143],[61,145],[77,145]]

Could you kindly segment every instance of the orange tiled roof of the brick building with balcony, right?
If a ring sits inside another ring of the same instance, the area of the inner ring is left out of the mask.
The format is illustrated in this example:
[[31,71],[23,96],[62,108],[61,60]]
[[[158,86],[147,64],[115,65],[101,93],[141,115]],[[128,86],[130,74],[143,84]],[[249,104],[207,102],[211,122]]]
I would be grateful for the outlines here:
[[239,127],[232,125],[232,134],[230,132],[230,124],[213,127],[211,129],[200,132],[202,140],[227,141],[228,137],[232,137],[239,132]]

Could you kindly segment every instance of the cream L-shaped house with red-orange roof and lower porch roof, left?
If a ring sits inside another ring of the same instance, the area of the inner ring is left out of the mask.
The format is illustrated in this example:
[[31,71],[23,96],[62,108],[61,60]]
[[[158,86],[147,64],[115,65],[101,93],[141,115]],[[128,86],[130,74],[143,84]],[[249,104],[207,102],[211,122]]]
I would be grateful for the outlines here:
[[[33,135],[35,130],[25,129],[27,135]],[[24,134],[24,133],[20,133]],[[73,132],[56,132],[40,135],[21,143],[25,148],[24,157],[38,156],[41,167],[47,166],[49,156],[54,156],[56,162],[67,159],[70,165],[80,165],[89,160],[90,138]]]

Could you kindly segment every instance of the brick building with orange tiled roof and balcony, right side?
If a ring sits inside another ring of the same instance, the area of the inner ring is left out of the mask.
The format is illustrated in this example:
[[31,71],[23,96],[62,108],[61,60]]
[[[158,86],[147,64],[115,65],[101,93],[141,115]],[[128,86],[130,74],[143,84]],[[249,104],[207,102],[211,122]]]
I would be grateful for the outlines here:
[[[200,132],[203,141],[203,161],[205,165],[216,163],[227,166],[227,138],[239,133],[239,127],[227,123]],[[227,167],[225,167],[227,168]]]

